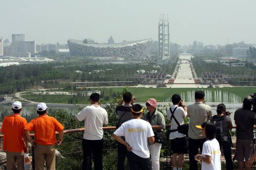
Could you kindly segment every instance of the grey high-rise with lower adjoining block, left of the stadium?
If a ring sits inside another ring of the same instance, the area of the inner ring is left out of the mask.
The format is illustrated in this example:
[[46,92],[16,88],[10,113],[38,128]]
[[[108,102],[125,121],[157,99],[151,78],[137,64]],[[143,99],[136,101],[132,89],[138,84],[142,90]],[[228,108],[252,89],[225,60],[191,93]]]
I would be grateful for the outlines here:
[[26,57],[27,53],[36,53],[35,41],[25,41],[25,34],[12,34],[12,55]]

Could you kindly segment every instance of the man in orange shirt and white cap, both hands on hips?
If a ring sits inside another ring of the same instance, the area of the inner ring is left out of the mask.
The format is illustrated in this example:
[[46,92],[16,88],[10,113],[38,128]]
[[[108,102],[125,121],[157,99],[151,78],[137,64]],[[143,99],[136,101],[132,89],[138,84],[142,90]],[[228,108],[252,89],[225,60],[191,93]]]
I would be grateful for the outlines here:
[[[55,148],[63,139],[64,127],[54,117],[46,114],[47,106],[45,103],[38,103],[38,117],[30,121],[26,126],[25,132],[28,141],[35,147],[35,169],[43,170],[46,160],[48,170],[55,170]],[[35,140],[31,140],[29,132],[33,131]],[[59,139],[56,139],[55,131],[59,132]]]

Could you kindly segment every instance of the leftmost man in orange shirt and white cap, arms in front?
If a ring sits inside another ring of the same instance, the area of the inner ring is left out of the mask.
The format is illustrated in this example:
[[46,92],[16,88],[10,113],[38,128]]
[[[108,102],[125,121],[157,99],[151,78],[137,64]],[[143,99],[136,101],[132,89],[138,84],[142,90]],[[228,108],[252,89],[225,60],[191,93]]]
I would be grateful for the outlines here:
[[[24,169],[24,152],[28,152],[28,142],[25,137],[24,128],[27,120],[20,116],[22,103],[16,101],[12,104],[13,114],[5,116],[1,128],[4,134],[3,150],[6,152],[7,169]],[[16,163],[16,165],[15,165]]]

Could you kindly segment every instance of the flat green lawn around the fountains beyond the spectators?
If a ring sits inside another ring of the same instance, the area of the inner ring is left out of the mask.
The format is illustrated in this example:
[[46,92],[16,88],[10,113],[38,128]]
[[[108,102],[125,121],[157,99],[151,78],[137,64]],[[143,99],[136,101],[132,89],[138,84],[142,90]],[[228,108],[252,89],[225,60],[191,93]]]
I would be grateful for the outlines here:
[[[103,89],[103,88],[91,88],[91,89]],[[105,88],[104,88],[105,89]],[[121,92],[123,88],[121,87],[111,87],[114,92]],[[132,92],[135,95],[136,102],[143,103],[150,98],[155,98],[158,102],[163,102],[167,98],[175,93],[181,94],[186,93],[187,91],[211,91],[212,94],[215,91],[225,91],[227,93],[234,93],[240,96],[241,99],[244,99],[246,95],[253,94],[256,92],[255,87],[224,87],[224,88],[143,88],[143,87],[128,87],[128,91]],[[46,103],[68,103],[69,99],[72,98],[70,95],[22,95],[23,98],[35,101],[35,102],[46,102]],[[110,98],[113,99],[113,98]],[[241,101],[242,102],[242,101]],[[89,97],[81,98],[77,97],[77,104],[90,104]]]

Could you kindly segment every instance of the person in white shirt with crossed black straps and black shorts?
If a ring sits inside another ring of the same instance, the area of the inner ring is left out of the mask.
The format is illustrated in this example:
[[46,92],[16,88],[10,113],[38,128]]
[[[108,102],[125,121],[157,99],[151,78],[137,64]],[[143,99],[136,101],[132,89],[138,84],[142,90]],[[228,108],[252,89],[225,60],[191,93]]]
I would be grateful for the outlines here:
[[[179,133],[177,131],[178,124],[176,123],[174,117],[172,117],[171,110],[173,112],[173,116],[177,119],[180,125],[184,124],[184,118],[187,116],[187,109],[185,103],[181,100],[179,94],[174,94],[172,96],[173,106],[172,108],[167,110],[167,119],[170,120],[171,126],[170,130],[174,130],[170,133],[170,149],[173,151],[172,155],[172,165],[173,169],[177,169],[177,156],[178,157],[178,170],[182,169],[184,154],[187,153],[188,145],[186,135]],[[172,117],[172,119],[171,119]],[[176,130],[176,131],[175,131]]]

